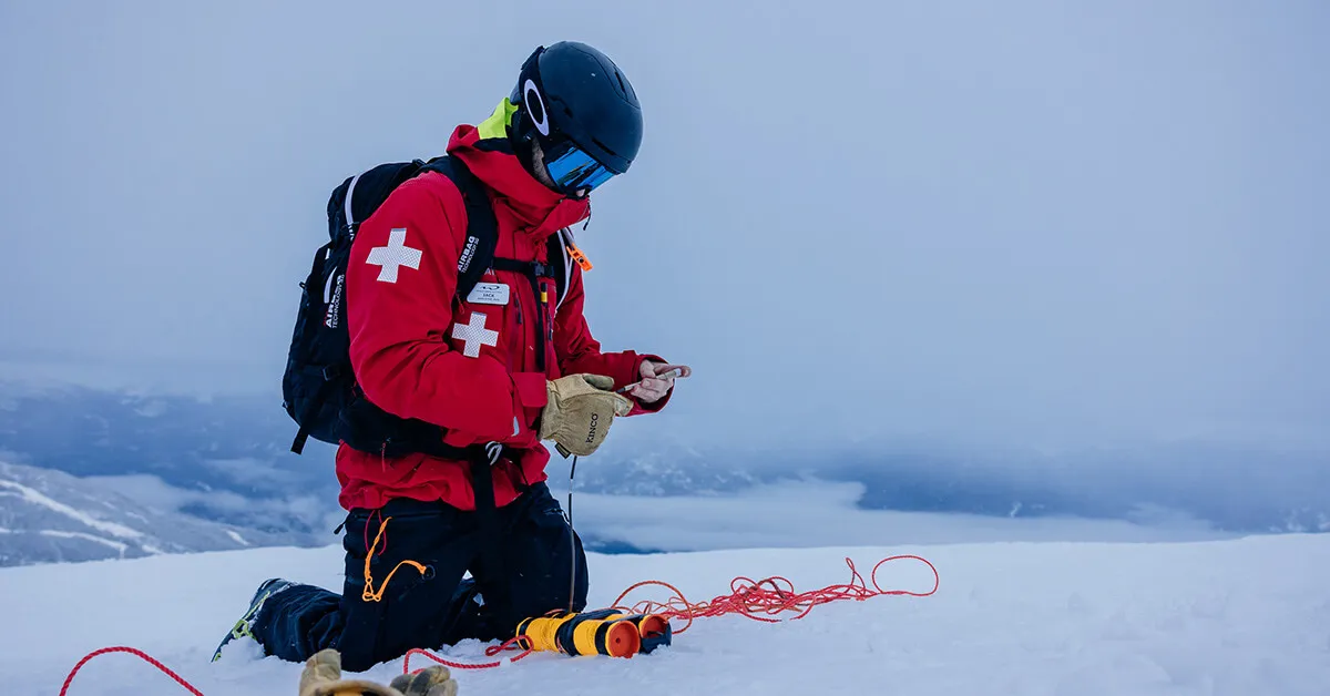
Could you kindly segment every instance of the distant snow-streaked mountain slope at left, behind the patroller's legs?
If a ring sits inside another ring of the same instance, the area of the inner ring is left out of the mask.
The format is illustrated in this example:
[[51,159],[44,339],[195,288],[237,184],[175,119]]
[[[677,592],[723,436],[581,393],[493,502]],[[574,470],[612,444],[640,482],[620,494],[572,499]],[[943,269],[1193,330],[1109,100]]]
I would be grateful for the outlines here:
[[0,566],[247,548],[291,539],[152,510],[60,471],[0,462]]

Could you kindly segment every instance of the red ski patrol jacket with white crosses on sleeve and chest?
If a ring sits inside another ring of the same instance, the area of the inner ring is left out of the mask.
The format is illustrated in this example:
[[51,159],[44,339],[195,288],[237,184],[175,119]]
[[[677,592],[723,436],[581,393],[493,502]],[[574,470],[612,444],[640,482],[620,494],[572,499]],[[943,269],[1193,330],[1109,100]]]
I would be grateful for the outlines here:
[[[496,112],[495,117],[501,117]],[[565,198],[531,177],[496,133],[459,126],[448,153],[459,157],[491,190],[499,222],[495,256],[547,261],[545,238],[583,221],[589,202]],[[495,149],[500,146],[500,149]],[[480,282],[504,283],[505,305],[458,301],[458,258],[466,241],[462,194],[436,172],[407,181],[363,222],[346,273],[351,365],[366,397],[402,418],[448,429],[444,442],[468,446],[501,442],[520,451],[493,467],[495,499],[511,503],[523,484],[545,480],[549,451],[533,430],[545,406],[545,381],[575,373],[609,375],[614,386],[638,379],[646,358],[633,351],[601,353],[583,317],[581,269],[573,265],[557,309],[551,279],[541,305],[519,273],[487,271]],[[493,302],[493,299],[491,299]],[[544,310],[545,373],[536,371],[537,311]],[[552,334],[552,335],[551,335]],[[636,405],[654,411],[666,399]],[[392,498],[443,500],[475,510],[469,464],[422,454],[383,458],[350,448],[336,454],[342,507],[375,508]]]

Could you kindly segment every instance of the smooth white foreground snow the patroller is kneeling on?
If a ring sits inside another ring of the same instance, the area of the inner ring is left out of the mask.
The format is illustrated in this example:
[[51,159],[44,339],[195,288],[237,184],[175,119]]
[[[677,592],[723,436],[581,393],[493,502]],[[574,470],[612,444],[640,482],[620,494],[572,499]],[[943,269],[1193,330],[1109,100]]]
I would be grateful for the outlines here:
[[[1330,692],[1330,536],[1323,535],[592,555],[591,599],[608,604],[634,582],[661,579],[696,602],[728,594],[735,575],[783,575],[811,590],[847,582],[846,556],[866,572],[903,552],[936,564],[935,596],[845,602],[774,625],[705,619],[670,648],[632,660],[536,655],[500,669],[458,672],[460,692]],[[931,586],[927,568],[898,563],[879,571],[883,588]],[[338,587],[340,567],[340,550],[327,547],[5,568],[0,673],[8,693],[57,693],[80,657],[122,644],[164,660],[207,696],[294,695],[299,665],[258,659],[251,641],[233,643],[217,664],[207,660],[261,580],[282,575]],[[448,652],[481,659],[475,641]],[[395,660],[370,676],[387,681],[400,669]],[[184,691],[137,657],[105,655],[84,667],[69,693]]]

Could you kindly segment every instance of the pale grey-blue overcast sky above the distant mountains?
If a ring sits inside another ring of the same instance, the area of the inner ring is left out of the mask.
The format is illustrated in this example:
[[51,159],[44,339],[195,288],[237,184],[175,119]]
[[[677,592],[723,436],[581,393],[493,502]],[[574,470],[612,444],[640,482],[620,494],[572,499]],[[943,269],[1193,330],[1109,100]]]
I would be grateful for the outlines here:
[[588,317],[729,442],[1325,442],[1330,4],[0,5],[0,358],[277,390],[329,192],[637,89]]

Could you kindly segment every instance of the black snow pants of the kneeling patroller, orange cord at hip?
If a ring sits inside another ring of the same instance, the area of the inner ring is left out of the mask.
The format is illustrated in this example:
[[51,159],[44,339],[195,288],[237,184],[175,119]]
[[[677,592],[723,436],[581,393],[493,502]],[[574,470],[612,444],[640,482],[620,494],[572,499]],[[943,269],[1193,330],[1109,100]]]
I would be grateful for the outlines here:
[[[259,612],[254,637],[266,655],[290,661],[336,648],[344,669],[363,672],[411,648],[507,640],[528,616],[585,608],[587,556],[549,487],[537,483],[491,512],[487,532],[476,512],[440,502],[352,510],[342,595],[303,584],[279,592]],[[467,571],[472,578],[463,579]]]

